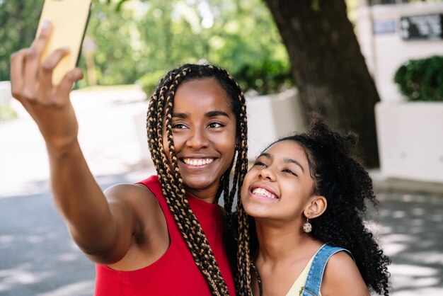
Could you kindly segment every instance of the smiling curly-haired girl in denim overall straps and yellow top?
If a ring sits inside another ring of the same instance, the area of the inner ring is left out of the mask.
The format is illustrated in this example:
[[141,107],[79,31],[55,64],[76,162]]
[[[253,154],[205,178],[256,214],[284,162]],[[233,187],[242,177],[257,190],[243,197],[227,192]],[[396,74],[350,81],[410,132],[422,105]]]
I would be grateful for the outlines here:
[[354,144],[315,115],[309,132],[277,140],[246,174],[254,295],[389,295],[391,261],[363,221],[365,201],[377,200]]

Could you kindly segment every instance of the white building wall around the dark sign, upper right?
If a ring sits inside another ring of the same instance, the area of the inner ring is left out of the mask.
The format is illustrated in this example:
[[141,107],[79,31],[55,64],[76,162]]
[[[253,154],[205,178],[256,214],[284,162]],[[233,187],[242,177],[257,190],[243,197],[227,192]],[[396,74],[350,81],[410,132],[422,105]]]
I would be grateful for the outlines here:
[[[443,55],[443,40],[403,40],[399,29],[402,16],[436,13],[443,13],[443,3],[422,2],[357,8],[357,38],[381,101],[404,100],[393,83],[393,76],[403,62]],[[374,22],[391,20],[395,23],[395,32],[373,34]]]

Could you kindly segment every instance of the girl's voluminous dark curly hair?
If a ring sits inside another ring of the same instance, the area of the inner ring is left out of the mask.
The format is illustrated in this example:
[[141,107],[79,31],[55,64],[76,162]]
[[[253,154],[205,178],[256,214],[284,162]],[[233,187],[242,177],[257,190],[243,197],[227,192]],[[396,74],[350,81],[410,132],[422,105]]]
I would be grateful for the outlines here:
[[[301,144],[306,152],[314,180],[313,194],[323,195],[328,200],[323,215],[309,220],[311,237],[351,251],[369,290],[389,295],[387,266],[391,260],[364,224],[367,217],[365,202],[376,206],[378,200],[372,179],[351,156],[355,152],[357,136],[333,132],[321,115],[313,113],[308,132],[283,137],[272,144],[288,140]],[[255,235],[253,226],[251,236]],[[255,242],[255,239],[251,240]]]

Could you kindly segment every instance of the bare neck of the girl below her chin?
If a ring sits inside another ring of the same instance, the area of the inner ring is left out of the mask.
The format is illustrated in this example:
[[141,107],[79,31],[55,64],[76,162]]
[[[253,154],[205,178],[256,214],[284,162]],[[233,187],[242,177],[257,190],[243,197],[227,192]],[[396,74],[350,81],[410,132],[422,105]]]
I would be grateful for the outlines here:
[[289,258],[297,260],[320,244],[303,232],[301,226],[293,223],[274,224],[255,220],[255,226],[259,245],[257,260],[263,263],[285,262]]

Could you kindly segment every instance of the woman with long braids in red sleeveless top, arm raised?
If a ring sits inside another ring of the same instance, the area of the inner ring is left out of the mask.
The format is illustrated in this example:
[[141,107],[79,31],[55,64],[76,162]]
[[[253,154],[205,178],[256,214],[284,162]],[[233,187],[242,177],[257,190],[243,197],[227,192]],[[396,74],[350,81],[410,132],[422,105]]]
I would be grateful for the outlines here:
[[[40,63],[51,30],[46,23],[30,48],[11,56],[13,96],[45,139],[55,203],[76,244],[96,262],[96,296],[235,295],[224,239],[247,170],[246,106],[238,84],[207,65],[185,64],[166,74],[147,116],[158,176],[103,192],[81,152],[69,101],[83,74],[74,69],[52,85],[52,70],[67,49]],[[217,205],[221,195],[227,219]],[[237,212],[237,257],[246,258],[246,215],[241,206]],[[248,264],[232,266],[241,274],[240,293],[248,290]]]

